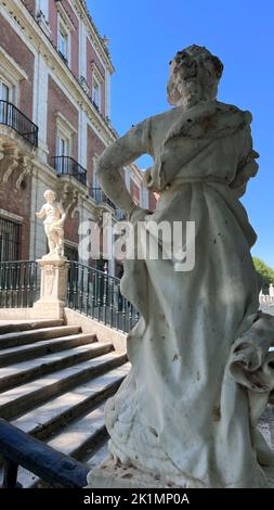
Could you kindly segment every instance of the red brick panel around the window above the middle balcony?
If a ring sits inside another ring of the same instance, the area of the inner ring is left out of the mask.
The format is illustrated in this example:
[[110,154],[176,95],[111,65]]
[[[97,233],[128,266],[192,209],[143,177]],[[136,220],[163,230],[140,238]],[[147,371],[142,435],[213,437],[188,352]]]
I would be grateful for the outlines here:
[[[48,95],[48,146],[49,157],[56,155],[56,114],[61,112],[64,117],[78,130],[78,111],[62,92],[58,86],[49,77]],[[77,133],[71,139],[70,156],[78,160]]]

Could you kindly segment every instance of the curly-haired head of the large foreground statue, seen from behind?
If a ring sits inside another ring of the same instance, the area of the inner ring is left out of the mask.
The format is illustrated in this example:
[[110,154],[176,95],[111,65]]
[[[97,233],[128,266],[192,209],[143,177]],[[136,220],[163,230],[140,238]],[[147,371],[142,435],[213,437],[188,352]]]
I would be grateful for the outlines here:
[[212,101],[217,97],[223,64],[205,47],[190,46],[170,62],[168,102],[172,106]]

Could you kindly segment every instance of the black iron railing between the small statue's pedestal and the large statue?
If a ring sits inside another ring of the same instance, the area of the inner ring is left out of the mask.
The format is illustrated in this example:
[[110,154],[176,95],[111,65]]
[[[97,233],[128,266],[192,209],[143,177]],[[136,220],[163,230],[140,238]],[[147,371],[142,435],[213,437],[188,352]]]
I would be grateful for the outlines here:
[[129,332],[138,310],[120,292],[120,279],[77,262],[68,263],[67,307]]

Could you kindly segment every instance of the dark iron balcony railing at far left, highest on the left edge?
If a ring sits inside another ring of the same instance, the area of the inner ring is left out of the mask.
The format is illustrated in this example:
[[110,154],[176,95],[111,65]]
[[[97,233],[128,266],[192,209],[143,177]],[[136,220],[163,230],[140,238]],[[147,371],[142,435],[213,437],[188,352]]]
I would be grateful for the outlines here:
[[8,101],[0,101],[0,124],[14,129],[31,145],[38,145],[38,126]]

